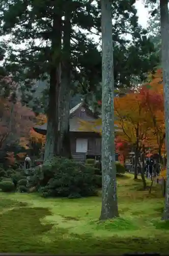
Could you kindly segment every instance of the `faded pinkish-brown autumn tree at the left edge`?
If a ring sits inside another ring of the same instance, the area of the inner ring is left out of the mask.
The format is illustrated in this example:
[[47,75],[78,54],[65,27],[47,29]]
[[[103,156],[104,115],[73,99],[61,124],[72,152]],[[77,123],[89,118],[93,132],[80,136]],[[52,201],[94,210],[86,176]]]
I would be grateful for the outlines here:
[[30,129],[34,124],[34,113],[19,101],[0,98],[0,148],[12,144],[23,144],[29,139]]

